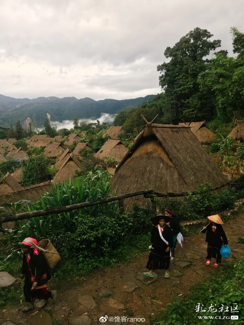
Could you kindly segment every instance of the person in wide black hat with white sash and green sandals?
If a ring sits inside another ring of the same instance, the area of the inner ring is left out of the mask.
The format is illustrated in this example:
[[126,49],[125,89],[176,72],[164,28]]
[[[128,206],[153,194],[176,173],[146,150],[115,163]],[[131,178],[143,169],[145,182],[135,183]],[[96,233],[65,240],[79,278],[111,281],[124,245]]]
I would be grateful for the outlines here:
[[172,230],[166,225],[169,217],[159,214],[153,217],[152,222],[156,225],[151,231],[151,251],[144,272],[148,277],[153,278],[154,270],[165,270],[164,277],[169,278],[170,248],[173,246]]

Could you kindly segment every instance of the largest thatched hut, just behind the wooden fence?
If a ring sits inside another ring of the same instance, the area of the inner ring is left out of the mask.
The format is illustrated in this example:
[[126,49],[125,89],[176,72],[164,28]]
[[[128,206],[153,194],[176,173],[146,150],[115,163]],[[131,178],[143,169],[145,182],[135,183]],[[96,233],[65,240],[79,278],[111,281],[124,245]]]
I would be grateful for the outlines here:
[[[187,126],[152,124],[137,138],[118,165],[111,185],[116,195],[143,189],[191,192],[203,183],[213,188],[228,181]],[[148,202],[142,196],[126,205]]]

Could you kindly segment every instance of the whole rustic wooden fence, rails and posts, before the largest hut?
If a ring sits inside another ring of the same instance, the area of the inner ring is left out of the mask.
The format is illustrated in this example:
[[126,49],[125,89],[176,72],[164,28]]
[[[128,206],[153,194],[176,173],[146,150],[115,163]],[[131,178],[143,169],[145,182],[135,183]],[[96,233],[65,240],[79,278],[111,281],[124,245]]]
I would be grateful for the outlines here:
[[[213,188],[213,189],[211,189],[211,191],[215,191],[217,189],[223,188],[228,184],[229,183],[226,183],[222,186]],[[192,195],[196,195],[197,193],[198,193],[197,191],[191,192]],[[145,198],[150,198],[153,203],[154,209],[156,209],[156,202],[153,200],[154,196],[157,196],[157,197],[183,197],[186,194],[188,194],[188,192],[159,193],[159,192],[154,192],[153,189],[149,189],[149,190],[135,192],[135,193],[112,196],[110,198],[102,199],[102,200],[98,200],[98,201],[90,201],[90,202],[67,205],[67,206],[55,208],[55,209],[38,210],[38,211],[32,211],[32,212],[23,212],[23,213],[19,213],[19,214],[5,215],[5,216],[0,217],[0,224],[9,222],[9,221],[17,221],[17,220],[29,219],[29,218],[33,218],[33,217],[45,216],[45,215],[49,215],[49,214],[73,211],[73,210],[77,210],[77,209],[86,208],[88,206],[93,206],[93,205],[103,204],[103,203],[108,203],[108,202],[113,202],[113,201],[119,202],[120,213],[123,213],[124,212],[124,199],[131,198],[134,196],[139,196],[139,195],[143,195]]]

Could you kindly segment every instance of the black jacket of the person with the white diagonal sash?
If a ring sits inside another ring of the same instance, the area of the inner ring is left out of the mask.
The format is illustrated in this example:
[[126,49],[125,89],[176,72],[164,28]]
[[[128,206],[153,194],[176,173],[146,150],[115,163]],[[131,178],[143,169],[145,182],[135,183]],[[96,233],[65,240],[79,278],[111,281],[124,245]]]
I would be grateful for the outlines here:
[[173,241],[173,232],[170,229],[170,227],[168,227],[167,225],[165,225],[162,236],[164,237],[165,240],[167,240],[169,242],[169,245],[167,245],[160,237],[159,232],[158,232],[158,228],[153,227],[152,231],[151,231],[151,243],[152,246],[154,248],[154,252],[158,251],[158,252],[165,252],[166,248],[169,247],[173,247],[174,245],[174,241]]

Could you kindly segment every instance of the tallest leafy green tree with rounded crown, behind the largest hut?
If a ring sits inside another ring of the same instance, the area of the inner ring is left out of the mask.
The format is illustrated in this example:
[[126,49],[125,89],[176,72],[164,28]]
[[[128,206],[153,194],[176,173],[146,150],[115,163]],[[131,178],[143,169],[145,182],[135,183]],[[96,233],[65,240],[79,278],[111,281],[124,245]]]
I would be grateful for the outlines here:
[[210,114],[202,105],[197,78],[207,68],[210,51],[221,45],[220,40],[211,41],[212,36],[206,29],[195,28],[173,47],[167,47],[164,55],[170,61],[157,66],[159,84],[165,92],[163,112],[172,123]]

